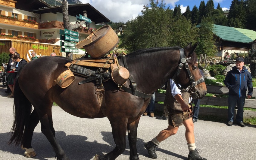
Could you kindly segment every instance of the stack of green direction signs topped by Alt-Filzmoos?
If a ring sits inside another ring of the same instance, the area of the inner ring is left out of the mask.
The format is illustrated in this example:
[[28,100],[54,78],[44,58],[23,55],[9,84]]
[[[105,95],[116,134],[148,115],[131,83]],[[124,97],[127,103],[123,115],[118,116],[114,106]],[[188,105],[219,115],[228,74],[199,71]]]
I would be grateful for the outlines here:
[[74,52],[78,53],[79,50],[74,48],[76,43],[79,42],[79,33],[70,31],[68,29],[61,30],[60,29],[60,38],[61,38],[61,52]]

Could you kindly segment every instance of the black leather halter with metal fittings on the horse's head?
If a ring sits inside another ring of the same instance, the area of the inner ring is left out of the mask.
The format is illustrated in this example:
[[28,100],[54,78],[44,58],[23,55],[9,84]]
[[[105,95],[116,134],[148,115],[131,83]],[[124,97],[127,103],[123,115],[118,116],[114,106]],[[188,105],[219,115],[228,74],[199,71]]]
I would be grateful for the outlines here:
[[[181,90],[181,92],[188,92],[190,90],[192,93],[195,93],[195,92],[197,92],[197,88],[195,88],[195,86],[204,82],[204,76],[202,76],[197,81],[195,81],[194,77],[192,76],[192,74],[189,70],[189,64],[187,63],[187,60],[190,60],[191,58],[192,57],[186,58],[186,56],[184,54],[184,49],[180,48],[180,64],[178,66],[178,70],[176,71],[176,73],[172,77],[172,80],[174,81],[176,86]],[[183,87],[180,87],[180,85],[174,80],[180,74],[180,70],[183,68],[183,66],[185,66],[185,68],[187,69],[187,72],[189,74],[190,85],[186,89],[184,89]],[[195,89],[195,90],[192,91],[192,89]]]

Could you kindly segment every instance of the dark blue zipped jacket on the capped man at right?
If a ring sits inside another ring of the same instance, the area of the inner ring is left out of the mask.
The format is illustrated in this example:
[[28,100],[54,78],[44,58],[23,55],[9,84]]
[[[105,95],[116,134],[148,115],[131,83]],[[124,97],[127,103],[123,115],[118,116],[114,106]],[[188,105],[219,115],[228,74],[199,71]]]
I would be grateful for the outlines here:
[[229,88],[229,95],[245,97],[248,87],[248,95],[252,95],[251,73],[243,66],[242,73],[237,70],[236,66],[226,75],[224,84]]

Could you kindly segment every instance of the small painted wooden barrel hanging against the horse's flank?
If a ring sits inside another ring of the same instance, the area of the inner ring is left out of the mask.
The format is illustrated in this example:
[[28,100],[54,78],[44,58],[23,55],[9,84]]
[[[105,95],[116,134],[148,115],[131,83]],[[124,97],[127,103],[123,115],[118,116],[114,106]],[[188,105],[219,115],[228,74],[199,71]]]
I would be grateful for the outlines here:
[[68,87],[75,80],[74,74],[70,70],[62,72],[56,82],[61,88]]

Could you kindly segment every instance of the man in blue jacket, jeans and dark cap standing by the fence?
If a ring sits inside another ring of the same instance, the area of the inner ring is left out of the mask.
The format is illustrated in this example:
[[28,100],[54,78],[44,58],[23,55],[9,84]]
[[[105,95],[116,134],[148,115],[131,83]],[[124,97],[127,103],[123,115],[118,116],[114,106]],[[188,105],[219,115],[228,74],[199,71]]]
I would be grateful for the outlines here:
[[237,104],[236,123],[245,127],[243,123],[243,113],[245,105],[245,96],[248,87],[247,98],[252,96],[251,73],[244,67],[245,61],[242,57],[236,59],[236,66],[228,72],[224,84],[229,88],[228,97],[228,126],[233,125],[234,110]]

